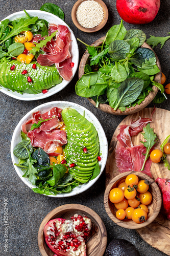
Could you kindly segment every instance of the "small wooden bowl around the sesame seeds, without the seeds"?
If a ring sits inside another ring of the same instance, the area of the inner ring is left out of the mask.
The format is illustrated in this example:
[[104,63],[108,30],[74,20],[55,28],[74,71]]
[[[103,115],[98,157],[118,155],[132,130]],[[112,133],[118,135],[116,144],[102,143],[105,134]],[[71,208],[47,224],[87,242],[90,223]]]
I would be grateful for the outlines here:
[[80,25],[80,23],[78,23],[77,21],[77,17],[76,17],[76,12],[77,12],[77,8],[79,7],[80,4],[82,4],[82,2],[84,1],[87,1],[87,0],[78,0],[75,5],[72,7],[72,11],[71,11],[71,18],[72,18],[72,22],[75,24],[75,26],[80,29],[81,31],[83,32],[87,32],[87,33],[92,33],[92,32],[96,32],[96,31],[99,31],[100,29],[102,29],[106,23],[107,23],[107,20],[108,20],[108,16],[109,16],[109,13],[108,13],[108,9],[107,9],[107,6],[105,5],[105,3],[102,1],[102,0],[94,0],[95,2],[98,2],[102,8],[103,8],[103,12],[104,12],[104,17],[103,17],[103,20],[102,22],[94,27],[94,28],[91,28],[91,29],[88,29],[88,28],[84,28]]

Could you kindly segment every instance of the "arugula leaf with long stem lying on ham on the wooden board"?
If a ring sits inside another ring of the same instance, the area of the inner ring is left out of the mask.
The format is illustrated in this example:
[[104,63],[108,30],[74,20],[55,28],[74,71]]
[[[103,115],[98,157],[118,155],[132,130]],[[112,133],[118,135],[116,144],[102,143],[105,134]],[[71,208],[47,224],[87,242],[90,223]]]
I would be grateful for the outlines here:
[[143,143],[143,145],[147,148],[147,152],[145,154],[144,162],[140,171],[144,169],[145,162],[150,156],[150,150],[158,140],[157,135],[156,133],[154,133],[153,130],[154,129],[150,127],[150,123],[148,123],[147,126],[143,128],[144,133],[141,133],[143,135],[143,138],[146,140],[144,142],[141,141],[141,143]]

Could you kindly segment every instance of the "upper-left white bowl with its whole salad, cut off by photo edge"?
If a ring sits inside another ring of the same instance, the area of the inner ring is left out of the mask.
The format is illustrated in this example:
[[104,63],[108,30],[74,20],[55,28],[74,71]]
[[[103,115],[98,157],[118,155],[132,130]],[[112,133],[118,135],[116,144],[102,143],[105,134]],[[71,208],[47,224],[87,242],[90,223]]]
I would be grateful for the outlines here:
[[61,91],[74,77],[79,49],[61,18],[46,11],[20,11],[2,20],[0,28],[1,92],[39,100]]

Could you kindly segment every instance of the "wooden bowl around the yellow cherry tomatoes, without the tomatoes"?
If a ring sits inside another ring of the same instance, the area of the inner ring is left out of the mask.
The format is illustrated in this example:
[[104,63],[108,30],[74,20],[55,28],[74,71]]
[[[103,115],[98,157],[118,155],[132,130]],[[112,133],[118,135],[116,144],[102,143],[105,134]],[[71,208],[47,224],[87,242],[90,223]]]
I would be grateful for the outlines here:
[[126,177],[129,174],[132,174],[132,172],[119,174],[110,181],[110,183],[108,184],[105,190],[104,204],[105,204],[105,209],[108,216],[117,225],[119,225],[120,227],[129,228],[129,229],[138,229],[138,228],[142,228],[149,225],[158,216],[161,208],[161,204],[162,204],[162,197],[161,197],[160,189],[153,179],[151,179],[146,174],[143,174],[140,172],[133,172],[133,174],[136,174],[138,176],[139,180],[149,180],[151,183],[149,191],[151,192],[153,199],[151,204],[147,205],[147,207],[149,208],[148,218],[147,218],[147,221],[142,222],[140,224],[137,224],[132,220],[123,220],[123,221],[118,220],[115,216],[115,212],[117,209],[115,208],[114,204],[109,200],[109,193],[112,188],[118,187],[118,185],[121,182],[124,182]]

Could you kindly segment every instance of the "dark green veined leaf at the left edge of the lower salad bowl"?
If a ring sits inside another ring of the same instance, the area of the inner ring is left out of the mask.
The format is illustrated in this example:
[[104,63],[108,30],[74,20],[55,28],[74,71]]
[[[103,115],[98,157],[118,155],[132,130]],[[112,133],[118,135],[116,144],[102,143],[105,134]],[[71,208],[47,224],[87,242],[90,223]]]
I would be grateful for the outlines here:
[[31,140],[24,140],[19,142],[14,147],[14,156],[20,159],[27,159],[29,157],[29,152],[33,152],[33,147],[31,145]]

